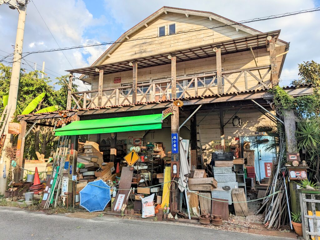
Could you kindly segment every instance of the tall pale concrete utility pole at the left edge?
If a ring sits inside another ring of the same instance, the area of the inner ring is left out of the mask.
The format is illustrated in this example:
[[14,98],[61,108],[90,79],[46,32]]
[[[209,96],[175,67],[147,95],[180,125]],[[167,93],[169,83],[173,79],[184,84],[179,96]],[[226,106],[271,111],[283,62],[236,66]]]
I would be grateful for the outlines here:
[[[26,21],[27,1],[2,0],[0,1],[0,4],[8,4],[9,8],[17,9],[19,11],[16,43],[14,45],[12,72],[11,72],[9,97],[8,97],[8,106],[12,105],[12,107],[9,112],[9,119],[5,126],[5,133],[7,136],[4,142],[4,149],[2,151],[2,156],[1,156],[4,161],[2,164],[0,164],[0,170],[1,170],[0,171],[0,193],[4,194],[5,190],[7,190],[7,182],[8,182],[9,169],[11,164],[11,159],[7,158],[4,152],[5,152],[5,148],[10,144],[13,137],[12,134],[8,134],[8,126],[17,108],[18,87],[19,87],[19,80],[20,80],[20,65],[21,65],[21,57],[22,57],[24,25]],[[3,174],[2,174],[4,166],[6,166],[5,178],[3,177]]]

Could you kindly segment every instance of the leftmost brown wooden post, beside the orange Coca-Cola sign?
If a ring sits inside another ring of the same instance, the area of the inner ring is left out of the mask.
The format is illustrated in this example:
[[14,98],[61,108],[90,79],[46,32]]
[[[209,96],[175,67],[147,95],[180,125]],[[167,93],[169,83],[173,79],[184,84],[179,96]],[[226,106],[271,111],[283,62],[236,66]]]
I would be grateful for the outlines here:
[[[21,124],[21,132],[18,136],[18,142],[17,142],[17,151],[16,151],[16,158],[17,158],[17,164],[22,167],[23,164],[23,152],[24,152],[24,142],[25,138],[24,135],[26,135],[27,130],[27,122],[24,120],[20,121]],[[17,167],[16,171],[14,171],[14,181],[19,182],[20,178],[23,178],[23,169],[20,169],[20,167]],[[21,171],[22,170],[22,171]],[[21,176],[22,172],[22,176]]]

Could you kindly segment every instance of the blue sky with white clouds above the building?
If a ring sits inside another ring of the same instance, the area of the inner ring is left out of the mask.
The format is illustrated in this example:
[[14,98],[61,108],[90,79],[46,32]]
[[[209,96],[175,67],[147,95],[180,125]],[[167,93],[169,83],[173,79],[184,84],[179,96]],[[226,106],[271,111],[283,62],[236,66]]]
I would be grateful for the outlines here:
[[[211,11],[241,21],[315,8],[320,6],[320,0],[32,0],[27,5],[23,52],[115,41],[163,6]],[[17,21],[17,10],[0,5],[0,58],[13,52]],[[281,85],[289,85],[299,77],[299,63],[310,60],[320,62],[319,24],[320,11],[316,11],[246,25],[261,32],[281,29],[279,38],[290,42]],[[33,70],[36,63],[36,69],[41,70],[45,62],[45,73],[54,84],[55,77],[68,74],[65,70],[90,66],[108,47],[31,54],[22,61],[21,67]],[[90,86],[77,81],[80,91],[90,89]]]

